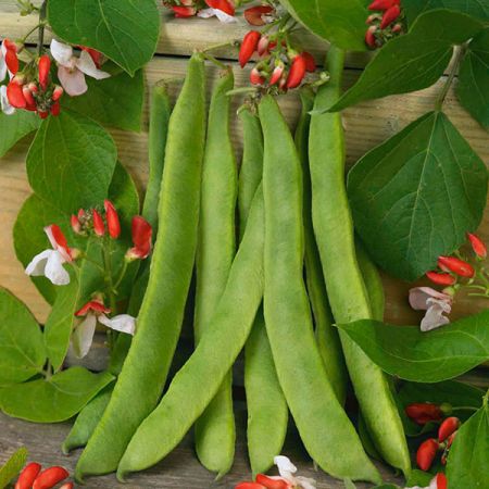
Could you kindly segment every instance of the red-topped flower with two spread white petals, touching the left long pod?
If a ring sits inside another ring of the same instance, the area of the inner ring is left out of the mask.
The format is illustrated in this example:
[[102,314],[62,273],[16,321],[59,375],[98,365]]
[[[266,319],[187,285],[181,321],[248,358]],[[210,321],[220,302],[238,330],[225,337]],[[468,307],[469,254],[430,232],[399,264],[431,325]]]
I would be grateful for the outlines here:
[[72,335],[73,351],[76,356],[83,359],[89,352],[93,341],[97,322],[115,331],[134,335],[134,331],[136,330],[136,319],[133,316],[120,314],[114,317],[108,317],[105,314],[109,312],[110,310],[106,309],[100,300],[92,300],[87,302],[75,313],[76,316],[85,317],[82,323],[76,326]]

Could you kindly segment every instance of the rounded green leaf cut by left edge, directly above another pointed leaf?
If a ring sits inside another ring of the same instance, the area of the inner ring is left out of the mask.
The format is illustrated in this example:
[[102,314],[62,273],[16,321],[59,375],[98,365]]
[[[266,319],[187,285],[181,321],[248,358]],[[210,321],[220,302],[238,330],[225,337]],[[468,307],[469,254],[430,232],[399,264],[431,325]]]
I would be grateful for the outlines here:
[[46,362],[42,333],[26,305],[0,288],[0,385],[39,374]]

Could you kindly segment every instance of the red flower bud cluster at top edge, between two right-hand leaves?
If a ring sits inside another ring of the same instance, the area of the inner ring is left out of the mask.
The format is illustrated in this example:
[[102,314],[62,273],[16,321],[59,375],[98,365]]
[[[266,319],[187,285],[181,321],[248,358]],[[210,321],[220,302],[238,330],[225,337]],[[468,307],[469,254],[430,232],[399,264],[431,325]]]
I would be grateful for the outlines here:
[[368,15],[366,23],[369,25],[365,33],[365,42],[376,49],[385,45],[389,39],[402,34],[401,0],[374,0],[368,10],[378,11]]

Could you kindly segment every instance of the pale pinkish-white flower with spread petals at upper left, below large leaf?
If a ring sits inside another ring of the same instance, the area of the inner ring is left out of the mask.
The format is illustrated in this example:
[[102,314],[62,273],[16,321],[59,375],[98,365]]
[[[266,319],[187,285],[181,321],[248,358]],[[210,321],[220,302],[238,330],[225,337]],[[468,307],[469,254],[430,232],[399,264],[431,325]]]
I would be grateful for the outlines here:
[[66,93],[76,97],[88,89],[85,75],[96,79],[109,78],[111,75],[97,67],[90,54],[82,51],[79,58],[73,54],[73,48],[55,39],[51,40],[51,54],[58,63],[58,78]]

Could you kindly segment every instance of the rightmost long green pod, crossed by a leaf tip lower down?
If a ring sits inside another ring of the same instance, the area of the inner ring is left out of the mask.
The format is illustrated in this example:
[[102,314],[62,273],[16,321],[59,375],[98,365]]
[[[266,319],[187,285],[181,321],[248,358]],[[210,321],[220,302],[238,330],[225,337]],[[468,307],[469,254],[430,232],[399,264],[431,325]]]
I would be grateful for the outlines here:
[[[315,109],[330,106],[341,93],[344,53],[331,47],[330,80],[319,88]],[[344,134],[339,113],[314,114],[310,131],[312,216],[323,274],[335,321],[372,317],[355,255],[353,223],[344,186]],[[383,456],[410,472],[404,431],[386,377],[363,351],[340,333],[348,371],[365,422]]]

